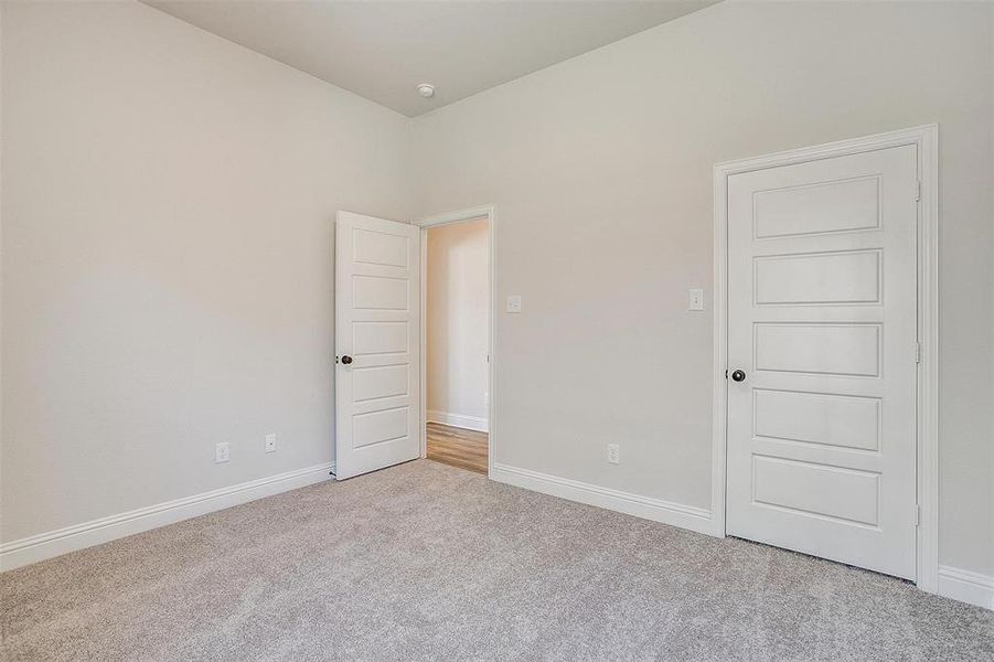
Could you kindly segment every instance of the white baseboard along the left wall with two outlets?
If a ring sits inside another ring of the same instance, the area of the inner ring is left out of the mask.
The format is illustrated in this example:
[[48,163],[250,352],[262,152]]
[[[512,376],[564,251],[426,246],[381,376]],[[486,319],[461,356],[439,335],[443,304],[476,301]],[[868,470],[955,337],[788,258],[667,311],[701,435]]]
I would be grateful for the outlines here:
[[314,465],[3,543],[0,544],[0,572],[303,488],[329,480],[331,471],[334,462]]

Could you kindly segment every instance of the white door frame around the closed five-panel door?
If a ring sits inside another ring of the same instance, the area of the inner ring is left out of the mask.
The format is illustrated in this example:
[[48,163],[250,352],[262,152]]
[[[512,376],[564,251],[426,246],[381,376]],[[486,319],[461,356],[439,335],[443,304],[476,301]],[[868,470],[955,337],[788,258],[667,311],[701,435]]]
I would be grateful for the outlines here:
[[[715,310],[712,448],[713,534],[725,537],[728,426],[728,178],[808,161],[913,145],[918,148],[918,364],[916,584],[939,589],[939,125],[888,131],[715,166]],[[915,508],[915,504],[908,504]]]

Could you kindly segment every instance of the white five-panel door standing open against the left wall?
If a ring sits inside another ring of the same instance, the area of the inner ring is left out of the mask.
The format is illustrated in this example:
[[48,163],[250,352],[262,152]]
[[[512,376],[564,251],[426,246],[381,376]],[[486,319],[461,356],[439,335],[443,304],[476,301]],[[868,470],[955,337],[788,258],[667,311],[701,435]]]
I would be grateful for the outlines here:
[[420,232],[339,212],[335,223],[335,478],[417,458]]

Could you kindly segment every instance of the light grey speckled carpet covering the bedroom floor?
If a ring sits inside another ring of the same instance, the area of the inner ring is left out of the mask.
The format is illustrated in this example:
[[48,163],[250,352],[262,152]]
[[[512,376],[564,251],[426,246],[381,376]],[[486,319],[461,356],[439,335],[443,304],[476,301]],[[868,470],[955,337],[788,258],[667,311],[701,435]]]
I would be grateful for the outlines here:
[[0,575],[14,660],[994,660],[994,612],[419,460]]

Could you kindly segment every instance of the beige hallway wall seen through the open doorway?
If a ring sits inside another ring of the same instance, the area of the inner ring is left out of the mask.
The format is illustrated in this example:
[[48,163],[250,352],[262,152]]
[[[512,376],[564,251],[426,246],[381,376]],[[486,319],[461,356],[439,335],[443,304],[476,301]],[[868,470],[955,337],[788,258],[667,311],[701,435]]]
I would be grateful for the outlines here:
[[485,425],[489,234],[487,218],[428,229],[429,420],[446,423],[450,415]]

